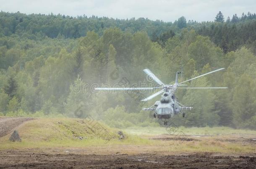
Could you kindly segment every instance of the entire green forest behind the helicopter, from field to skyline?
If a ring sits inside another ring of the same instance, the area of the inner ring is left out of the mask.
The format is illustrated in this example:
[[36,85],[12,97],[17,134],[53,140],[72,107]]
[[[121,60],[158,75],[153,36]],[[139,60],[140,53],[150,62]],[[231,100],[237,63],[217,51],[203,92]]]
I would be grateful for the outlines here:
[[94,92],[91,86],[149,82],[149,68],[164,83],[217,68],[179,90],[192,111],[175,116],[177,126],[256,129],[256,14],[221,12],[214,21],[181,16],[175,22],[0,12],[0,116],[72,117],[124,128],[157,126],[142,108],[147,93]]

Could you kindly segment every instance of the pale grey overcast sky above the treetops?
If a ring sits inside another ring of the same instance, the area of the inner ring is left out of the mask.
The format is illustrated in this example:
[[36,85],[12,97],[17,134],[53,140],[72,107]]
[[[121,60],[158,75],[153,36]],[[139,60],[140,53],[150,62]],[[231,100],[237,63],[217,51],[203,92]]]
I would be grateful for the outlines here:
[[256,0],[0,0],[0,10],[172,22],[185,16],[187,20],[212,21],[219,11],[225,19],[235,13],[255,13]]

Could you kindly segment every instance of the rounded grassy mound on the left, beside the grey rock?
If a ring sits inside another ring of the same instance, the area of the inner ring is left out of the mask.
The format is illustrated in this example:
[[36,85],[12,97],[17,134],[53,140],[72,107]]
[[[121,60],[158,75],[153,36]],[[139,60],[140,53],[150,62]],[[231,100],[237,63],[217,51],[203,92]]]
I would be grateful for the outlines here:
[[77,140],[79,136],[87,139],[118,138],[115,129],[99,121],[68,118],[28,121],[18,127],[18,133],[24,141]]

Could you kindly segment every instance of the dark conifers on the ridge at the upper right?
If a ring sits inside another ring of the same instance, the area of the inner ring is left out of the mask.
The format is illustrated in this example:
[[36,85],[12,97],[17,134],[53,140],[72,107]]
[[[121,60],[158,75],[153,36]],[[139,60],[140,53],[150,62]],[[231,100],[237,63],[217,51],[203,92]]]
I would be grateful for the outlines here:
[[[248,13],[247,15],[243,13],[241,17],[235,14],[232,20],[228,17],[226,22],[224,22],[224,16],[219,12],[215,22],[197,23],[189,21],[187,25],[185,21],[183,23],[181,28],[187,27],[189,30],[196,30],[196,33],[199,35],[209,36],[217,46],[223,49],[224,53],[234,51],[242,45],[246,45],[247,48],[253,50],[253,53],[256,53],[255,13]],[[172,30],[175,29],[172,28]],[[166,38],[171,37],[172,30],[161,33],[158,37],[155,37],[153,34],[152,40],[158,41],[160,44],[165,43]]]

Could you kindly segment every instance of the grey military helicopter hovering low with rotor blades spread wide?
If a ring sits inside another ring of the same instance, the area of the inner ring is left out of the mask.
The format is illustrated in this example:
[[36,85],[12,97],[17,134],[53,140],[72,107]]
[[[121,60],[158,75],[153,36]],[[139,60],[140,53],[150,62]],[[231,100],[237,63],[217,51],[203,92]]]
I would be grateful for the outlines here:
[[179,87],[179,86],[187,86],[186,84],[182,84],[188,81],[192,81],[196,78],[200,78],[202,76],[208,75],[210,73],[214,73],[217,71],[221,71],[225,68],[219,68],[215,71],[211,71],[200,76],[188,79],[183,82],[178,82],[178,75],[182,72],[176,72],[175,83],[174,84],[165,84],[157,78],[149,69],[144,69],[143,71],[146,73],[147,78],[153,79],[159,87],[149,87],[149,88],[95,88],[95,90],[104,90],[104,91],[112,91],[112,90],[152,90],[159,88],[160,91],[157,93],[152,94],[151,96],[142,99],[141,101],[149,101],[152,98],[162,94],[159,101],[156,101],[154,105],[149,108],[143,108],[144,111],[154,111],[154,118],[163,119],[164,124],[167,125],[167,122],[170,118],[172,118],[175,114],[179,114],[182,112],[182,116],[185,117],[185,112],[183,110],[191,110],[193,107],[187,107],[177,101],[175,97],[175,93],[177,89],[224,89],[227,87]]

